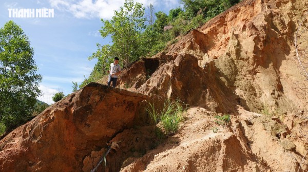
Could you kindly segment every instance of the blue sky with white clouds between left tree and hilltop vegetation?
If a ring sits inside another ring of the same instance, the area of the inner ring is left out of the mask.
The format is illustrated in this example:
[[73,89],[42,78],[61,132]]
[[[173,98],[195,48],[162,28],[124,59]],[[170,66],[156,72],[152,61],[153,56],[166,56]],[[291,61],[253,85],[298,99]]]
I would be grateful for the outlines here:
[[[168,11],[181,6],[180,0],[135,0],[144,7],[152,4],[155,11]],[[110,19],[124,0],[4,0],[0,6],[0,27],[13,20],[29,37],[34,49],[38,74],[43,76],[39,97],[52,104],[56,92],[72,92],[72,81],[80,84],[91,73],[96,60],[87,60],[97,50],[96,44],[109,44],[99,33],[101,18]],[[51,18],[9,17],[8,9],[53,9]]]

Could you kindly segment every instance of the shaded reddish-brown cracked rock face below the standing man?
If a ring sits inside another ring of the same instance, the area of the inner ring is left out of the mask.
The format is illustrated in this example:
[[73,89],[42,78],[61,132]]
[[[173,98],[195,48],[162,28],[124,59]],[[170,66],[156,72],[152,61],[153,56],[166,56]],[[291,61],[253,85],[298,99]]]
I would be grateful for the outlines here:
[[82,171],[83,159],[131,128],[142,94],[90,83],[0,141],[0,171]]

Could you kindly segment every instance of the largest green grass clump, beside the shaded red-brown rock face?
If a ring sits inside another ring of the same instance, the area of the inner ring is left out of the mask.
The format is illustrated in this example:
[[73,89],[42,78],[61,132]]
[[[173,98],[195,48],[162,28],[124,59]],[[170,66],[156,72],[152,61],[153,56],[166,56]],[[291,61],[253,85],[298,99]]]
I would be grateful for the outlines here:
[[166,99],[161,111],[155,107],[154,103],[149,103],[146,111],[153,123],[161,122],[166,135],[172,135],[178,131],[180,122],[183,120],[183,113],[186,111],[184,105],[180,100]]

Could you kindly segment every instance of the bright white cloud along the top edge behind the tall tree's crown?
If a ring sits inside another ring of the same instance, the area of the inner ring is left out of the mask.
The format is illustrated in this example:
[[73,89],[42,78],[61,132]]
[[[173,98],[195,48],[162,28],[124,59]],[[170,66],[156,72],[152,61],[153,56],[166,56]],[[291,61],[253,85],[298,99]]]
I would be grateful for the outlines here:
[[[119,10],[123,6],[125,0],[78,0],[78,1],[64,1],[64,0],[49,0],[52,8],[58,10],[68,11],[76,18],[93,18],[100,17],[104,19],[111,19],[114,15],[114,10]],[[162,5],[167,8],[173,7],[178,3],[178,0],[137,0],[142,3],[144,7],[152,5]]]

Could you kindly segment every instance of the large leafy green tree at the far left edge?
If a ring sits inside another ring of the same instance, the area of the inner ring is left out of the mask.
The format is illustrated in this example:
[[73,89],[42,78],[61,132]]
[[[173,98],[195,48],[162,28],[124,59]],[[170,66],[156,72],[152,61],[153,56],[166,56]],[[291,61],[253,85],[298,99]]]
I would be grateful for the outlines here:
[[0,29],[0,122],[8,130],[26,122],[41,95],[33,48],[13,21]]

